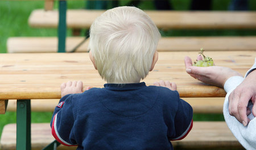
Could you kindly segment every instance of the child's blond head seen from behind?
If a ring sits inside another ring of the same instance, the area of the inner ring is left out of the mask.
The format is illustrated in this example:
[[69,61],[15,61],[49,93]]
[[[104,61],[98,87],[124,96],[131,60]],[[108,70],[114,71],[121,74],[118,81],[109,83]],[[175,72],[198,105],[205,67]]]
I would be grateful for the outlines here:
[[159,39],[158,28],[145,12],[116,7],[90,27],[90,57],[108,83],[139,82],[154,68]]

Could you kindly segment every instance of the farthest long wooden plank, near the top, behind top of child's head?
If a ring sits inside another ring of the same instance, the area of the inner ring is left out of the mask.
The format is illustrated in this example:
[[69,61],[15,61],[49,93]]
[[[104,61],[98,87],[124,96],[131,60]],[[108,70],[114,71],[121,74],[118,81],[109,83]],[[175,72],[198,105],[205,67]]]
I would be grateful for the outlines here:
[[[104,10],[68,10],[68,28],[89,28]],[[159,28],[256,28],[254,11],[145,11]],[[31,27],[56,28],[58,12],[34,10],[28,24]],[[236,19],[234,19],[236,18]]]

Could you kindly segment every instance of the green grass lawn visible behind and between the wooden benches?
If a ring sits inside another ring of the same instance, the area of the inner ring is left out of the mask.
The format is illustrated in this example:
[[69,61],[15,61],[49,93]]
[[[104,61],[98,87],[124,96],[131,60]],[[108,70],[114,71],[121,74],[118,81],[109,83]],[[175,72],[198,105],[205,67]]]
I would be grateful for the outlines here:
[[[129,1],[119,2],[126,5]],[[189,0],[172,0],[174,10],[188,10]],[[230,0],[213,0],[212,10],[228,10]],[[68,1],[68,9],[84,9],[85,1]],[[57,9],[57,1],[55,9]],[[141,9],[154,9],[151,1],[143,1]],[[0,1],[0,53],[6,53],[6,42],[13,36],[57,36],[55,28],[31,28],[28,26],[28,16],[34,9],[43,9],[44,1]],[[256,10],[256,0],[250,0],[250,11]],[[256,35],[256,30],[169,30],[161,31],[163,36],[249,36]],[[67,36],[71,36],[68,30]],[[32,122],[50,122],[51,112],[31,115]],[[16,122],[16,114],[7,112],[0,115],[0,135],[7,123]],[[193,120],[224,120],[222,114],[195,114]]]

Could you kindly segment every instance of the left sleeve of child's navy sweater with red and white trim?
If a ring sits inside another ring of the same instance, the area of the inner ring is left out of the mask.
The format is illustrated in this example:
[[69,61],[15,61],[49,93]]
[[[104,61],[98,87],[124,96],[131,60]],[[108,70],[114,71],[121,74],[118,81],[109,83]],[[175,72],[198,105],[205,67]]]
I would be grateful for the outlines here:
[[72,94],[65,95],[60,99],[52,115],[51,128],[53,137],[63,145],[77,145],[73,133],[74,122]]

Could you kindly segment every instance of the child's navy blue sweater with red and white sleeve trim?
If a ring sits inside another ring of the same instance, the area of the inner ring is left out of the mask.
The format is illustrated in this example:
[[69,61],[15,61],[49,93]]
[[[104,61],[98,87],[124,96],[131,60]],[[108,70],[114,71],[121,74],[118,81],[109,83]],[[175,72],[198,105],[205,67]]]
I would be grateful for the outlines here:
[[77,149],[173,149],[192,128],[192,107],[166,87],[105,84],[60,99],[52,134]]

